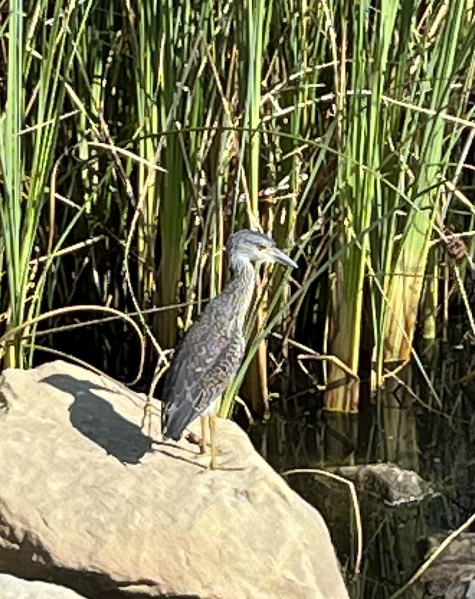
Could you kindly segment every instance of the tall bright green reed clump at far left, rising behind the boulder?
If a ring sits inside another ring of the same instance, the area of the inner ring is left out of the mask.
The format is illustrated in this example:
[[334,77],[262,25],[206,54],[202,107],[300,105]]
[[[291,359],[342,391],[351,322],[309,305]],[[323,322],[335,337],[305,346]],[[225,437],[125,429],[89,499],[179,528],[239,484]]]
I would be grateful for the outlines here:
[[[47,4],[35,5],[34,19],[29,20],[25,35],[25,14],[30,9],[21,0],[10,5],[7,105],[0,116],[0,213],[10,313],[7,328],[21,325],[40,310],[40,298],[33,292],[36,274],[30,262],[55,159],[64,80],[71,66],[65,56],[73,5],[56,5],[48,23]],[[26,96],[27,90],[32,90],[31,96]],[[5,364],[22,367],[24,360],[24,345],[16,335]]]

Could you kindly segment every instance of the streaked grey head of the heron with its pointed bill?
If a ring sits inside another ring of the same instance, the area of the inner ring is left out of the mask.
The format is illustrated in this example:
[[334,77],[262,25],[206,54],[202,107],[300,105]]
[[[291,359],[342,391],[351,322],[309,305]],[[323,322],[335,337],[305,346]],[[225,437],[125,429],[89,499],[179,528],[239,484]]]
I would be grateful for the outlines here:
[[296,262],[281,252],[275,246],[275,241],[272,238],[257,231],[242,229],[242,231],[233,233],[227,243],[227,252],[230,267],[233,270],[239,269],[240,265],[246,262],[252,264],[279,262],[285,266],[297,268]]

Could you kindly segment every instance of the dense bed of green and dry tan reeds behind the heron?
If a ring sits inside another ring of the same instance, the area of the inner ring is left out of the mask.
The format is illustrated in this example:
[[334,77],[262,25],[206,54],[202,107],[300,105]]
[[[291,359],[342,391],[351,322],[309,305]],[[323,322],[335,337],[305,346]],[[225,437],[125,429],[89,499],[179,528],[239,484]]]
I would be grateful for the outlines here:
[[[145,335],[151,380],[223,288],[228,235],[250,226],[300,268],[262,280],[223,415],[246,373],[263,414],[289,356],[346,412],[362,352],[373,391],[411,358],[422,368],[417,326],[427,339],[446,326],[441,264],[462,289],[471,247],[472,1],[0,11],[4,367],[63,350],[130,380]],[[453,258],[447,227],[467,235]]]

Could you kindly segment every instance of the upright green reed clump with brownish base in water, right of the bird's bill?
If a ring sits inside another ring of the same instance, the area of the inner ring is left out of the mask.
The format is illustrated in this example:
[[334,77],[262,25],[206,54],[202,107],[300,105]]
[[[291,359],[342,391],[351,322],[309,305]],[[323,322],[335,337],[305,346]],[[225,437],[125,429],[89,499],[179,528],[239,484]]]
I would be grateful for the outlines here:
[[[348,10],[348,12],[347,12]],[[388,67],[390,43],[394,35],[397,5],[382,1],[380,10],[369,22],[369,2],[342,10],[342,19],[353,24],[351,63],[344,98],[344,159],[338,171],[339,202],[345,220],[340,243],[352,239],[358,243],[345,252],[336,271],[332,319],[332,352],[353,373],[357,373],[363,307],[363,282],[370,240],[367,231],[374,217],[374,207],[381,204],[381,185],[375,174],[381,167],[384,151],[384,121],[381,118],[381,95]],[[348,91],[351,90],[351,95]],[[359,403],[359,385],[348,380],[341,368],[332,363],[326,407],[352,412]]]

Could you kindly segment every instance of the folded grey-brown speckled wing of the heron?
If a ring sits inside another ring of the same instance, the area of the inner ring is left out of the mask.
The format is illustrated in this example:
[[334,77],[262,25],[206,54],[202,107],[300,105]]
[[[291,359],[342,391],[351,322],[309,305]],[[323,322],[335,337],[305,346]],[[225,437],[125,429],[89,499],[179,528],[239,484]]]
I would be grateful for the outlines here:
[[175,440],[223,393],[238,371],[245,351],[239,331],[222,329],[210,340],[200,335],[200,329],[205,334],[206,326],[196,326],[185,336],[165,383],[163,431]]

